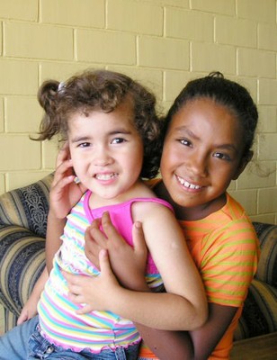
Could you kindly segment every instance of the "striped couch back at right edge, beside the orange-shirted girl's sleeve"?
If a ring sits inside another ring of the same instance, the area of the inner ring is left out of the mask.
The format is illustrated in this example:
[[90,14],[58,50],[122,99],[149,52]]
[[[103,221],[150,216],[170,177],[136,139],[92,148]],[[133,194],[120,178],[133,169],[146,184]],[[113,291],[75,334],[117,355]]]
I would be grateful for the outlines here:
[[261,257],[255,279],[277,288],[277,225],[254,222]]

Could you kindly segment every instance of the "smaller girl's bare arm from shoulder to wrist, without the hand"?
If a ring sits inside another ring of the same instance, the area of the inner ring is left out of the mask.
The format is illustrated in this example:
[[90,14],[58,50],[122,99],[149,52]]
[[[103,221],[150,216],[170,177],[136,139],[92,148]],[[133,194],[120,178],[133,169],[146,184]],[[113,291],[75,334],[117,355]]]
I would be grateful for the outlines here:
[[[108,309],[111,306],[122,317],[156,329],[199,328],[206,320],[205,293],[174,214],[155,204],[146,215],[139,213],[139,219],[143,219],[147,247],[163,278],[166,293],[121,289],[118,298],[107,304]],[[129,306],[123,306],[124,302]]]

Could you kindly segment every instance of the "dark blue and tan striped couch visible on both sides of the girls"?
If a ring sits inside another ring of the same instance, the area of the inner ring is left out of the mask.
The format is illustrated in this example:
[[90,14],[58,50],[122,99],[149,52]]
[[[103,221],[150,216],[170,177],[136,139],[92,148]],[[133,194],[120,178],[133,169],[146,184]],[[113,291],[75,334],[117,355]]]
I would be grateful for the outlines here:
[[[0,303],[12,329],[45,266],[49,187],[53,174],[0,196]],[[277,331],[277,225],[255,222],[261,245],[235,340]]]

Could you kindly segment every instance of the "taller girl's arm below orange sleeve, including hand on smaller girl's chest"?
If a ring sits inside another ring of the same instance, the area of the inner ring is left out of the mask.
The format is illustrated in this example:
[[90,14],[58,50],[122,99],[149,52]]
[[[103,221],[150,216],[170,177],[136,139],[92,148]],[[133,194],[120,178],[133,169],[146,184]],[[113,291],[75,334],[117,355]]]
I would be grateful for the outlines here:
[[[132,248],[112,227],[108,216],[104,217],[102,225],[105,235],[99,230],[99,222],[94,222],[87,229],[85,234],[86,256],[94,264],[97,264],[100,249],[107,249],[113,273],[121,284],[132,290],[149,291],[144,279],[147,249],[143,246],[144,238],[141,227],[134,227],[135,247]],[[124,268],[122,264],[124,264]],[[137,279],[136,283],[133,282],[134,279]],[[228,329],[236,312],[237,308],[235,307],[210,303],[209,318],[206,323],[200,329],[190,332],[150,329],[139,323],[136,326],[147,346],[160,360],[169,358],[200,360],[210,356]]]

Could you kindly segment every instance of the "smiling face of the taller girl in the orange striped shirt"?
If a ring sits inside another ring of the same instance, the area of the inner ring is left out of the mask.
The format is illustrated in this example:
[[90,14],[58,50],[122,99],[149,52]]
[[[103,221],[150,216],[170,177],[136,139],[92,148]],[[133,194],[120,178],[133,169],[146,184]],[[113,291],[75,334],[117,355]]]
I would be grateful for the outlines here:
[[179,216],[185,207],[183,213],[201,219],[224,205],[228,184],[246,166],[243,149],[243,130],[227,107],[201,98],[174,114],[165,136],[161,173],[180,207]]

